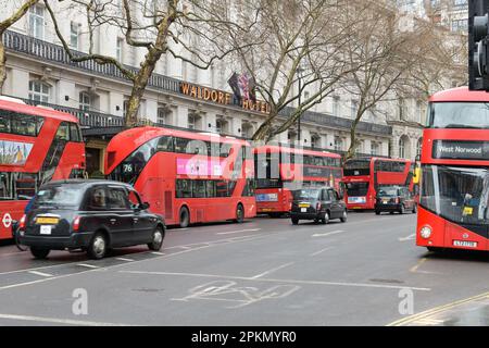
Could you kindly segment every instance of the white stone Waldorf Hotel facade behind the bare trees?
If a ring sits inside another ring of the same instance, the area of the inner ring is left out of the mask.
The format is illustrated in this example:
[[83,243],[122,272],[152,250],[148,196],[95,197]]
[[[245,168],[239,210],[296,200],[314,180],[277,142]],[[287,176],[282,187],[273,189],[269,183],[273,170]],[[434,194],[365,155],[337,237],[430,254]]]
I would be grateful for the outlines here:
[[[72,49],[88,51],[85,24],[63,5],[53,4],[63,13],[59,16],[60,29]],[[103,167],[106,144],[103,129],[121,124],[131,85],[114,66],[70,62],[41,3],[33,7],[5,34],[4,45],[8,77],[2,94],[64,109],[78,115],[82,124],[88,121],[95,124],[93,133],[86,132],[87,161],[93,167],[97,164]],[[113,27],[96,33],[93,50],[115,57],[128,66],[137,66],[145,53],[127,46]],[[235,103],[227,84],[231,73],[222,61],[204,71],[164,55],[148,85],[139,115],[161,125],[250,138],[265,120],[266,108],[259,105],[250,110]],[[304,91],[310,92],[313,91]],[[306,112],[301,120],[302,146],[346,151],[356,103],[354,97],[341,92]],[[358,127],[361,141],[358,152],[414,159],[419,149],[426,102],[406,100],[379,108],[384,112],[368,112]],[[297,142],[297,126],[276,138],[280,142]]]

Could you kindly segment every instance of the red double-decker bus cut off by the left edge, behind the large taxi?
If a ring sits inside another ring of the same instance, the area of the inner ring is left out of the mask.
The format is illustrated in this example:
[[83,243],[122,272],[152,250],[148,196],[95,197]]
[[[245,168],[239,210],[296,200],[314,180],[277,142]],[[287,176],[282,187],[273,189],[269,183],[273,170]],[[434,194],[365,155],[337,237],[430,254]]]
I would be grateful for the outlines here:
[[28,200],[51,179],[79,177],[85,144],[67,113],[0,97],[0,239],[12,238]]

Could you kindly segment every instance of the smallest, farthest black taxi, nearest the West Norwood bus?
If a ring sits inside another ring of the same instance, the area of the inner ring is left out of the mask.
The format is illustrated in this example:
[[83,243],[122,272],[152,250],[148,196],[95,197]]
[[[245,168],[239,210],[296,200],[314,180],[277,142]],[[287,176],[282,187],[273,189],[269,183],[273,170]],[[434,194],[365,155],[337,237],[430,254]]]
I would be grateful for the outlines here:
[[399,212],[401,214],[406,211],[416,213],[417,204],[413,194],[405,186],[381,186],[378,188],[377,198],[375,200],[375,213],[380,215],[381,212]]

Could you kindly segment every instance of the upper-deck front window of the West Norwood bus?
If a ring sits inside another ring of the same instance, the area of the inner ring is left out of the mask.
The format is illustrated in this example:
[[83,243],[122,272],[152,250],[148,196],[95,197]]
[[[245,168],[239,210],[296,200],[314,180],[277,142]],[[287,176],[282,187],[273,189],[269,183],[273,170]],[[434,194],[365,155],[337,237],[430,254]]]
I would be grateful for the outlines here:
[[489,103],[434,102],[427,122],[430,128],[489,128]]

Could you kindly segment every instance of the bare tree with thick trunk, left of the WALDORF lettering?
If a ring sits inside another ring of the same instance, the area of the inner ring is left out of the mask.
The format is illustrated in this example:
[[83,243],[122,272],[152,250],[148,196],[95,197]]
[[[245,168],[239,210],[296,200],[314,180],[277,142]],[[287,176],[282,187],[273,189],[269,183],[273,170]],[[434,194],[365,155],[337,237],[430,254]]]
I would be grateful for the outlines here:
[[[241,35],[240,32],[248,30],[233,17],[231,0],[71,0],[72,8],[83,13],[88,27],[88,53],[80,54],[72,51],[63,37],[57,15],[50,7],[52,0],[43,2],[55,33],[73,62],[92,60],[99,64],[113,64],[130,80],[133,89],[124,115],[127,127],[133,127],[138,122],[141,98],[163,54],[172,54],[205,70],[236,49],[217,40],[224,32]],[[246,7],[246,10],[250,9]],[[253,17],[252,12],[248,14]],[[252,23],[249,21],[249,25]],[[117,28],[129,47],[145,50],[146,54],[138,70],[124,65],[115,57],[96,52],[96,33],[106,26]]]

